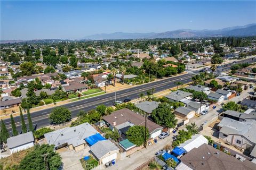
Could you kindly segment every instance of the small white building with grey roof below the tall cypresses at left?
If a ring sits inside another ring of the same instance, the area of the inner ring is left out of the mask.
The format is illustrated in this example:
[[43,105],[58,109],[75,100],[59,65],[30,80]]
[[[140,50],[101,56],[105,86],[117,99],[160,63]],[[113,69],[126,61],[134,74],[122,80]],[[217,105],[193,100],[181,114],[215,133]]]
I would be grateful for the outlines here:
[[11,154],[20,150],[28,149],[34,146],[34,136],[32,132],[22,133],[7,139],[7,148]]

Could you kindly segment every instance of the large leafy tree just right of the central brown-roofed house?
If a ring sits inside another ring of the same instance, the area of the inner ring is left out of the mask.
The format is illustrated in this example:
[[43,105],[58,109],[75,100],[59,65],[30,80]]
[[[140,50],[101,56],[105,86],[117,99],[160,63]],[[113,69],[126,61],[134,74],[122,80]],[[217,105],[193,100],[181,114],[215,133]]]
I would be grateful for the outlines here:
[[158,107],[151,113],[151,117],[154,122],[159,125],[164,125],[167,128],[174,128],[177,124],[177,119],[175,115],[171,112],[171,107],[169,104],[161,103]]

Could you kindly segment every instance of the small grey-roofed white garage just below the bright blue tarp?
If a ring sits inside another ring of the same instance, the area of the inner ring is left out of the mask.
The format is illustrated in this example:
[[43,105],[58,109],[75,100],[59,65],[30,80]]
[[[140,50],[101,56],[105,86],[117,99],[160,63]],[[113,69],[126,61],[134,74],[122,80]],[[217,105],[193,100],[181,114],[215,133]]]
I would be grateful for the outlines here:
[[101,165],[106,164],[111,160],[116,160],[118,158],[119,148],[110,140],[102,140],[91,146],[90,152]]

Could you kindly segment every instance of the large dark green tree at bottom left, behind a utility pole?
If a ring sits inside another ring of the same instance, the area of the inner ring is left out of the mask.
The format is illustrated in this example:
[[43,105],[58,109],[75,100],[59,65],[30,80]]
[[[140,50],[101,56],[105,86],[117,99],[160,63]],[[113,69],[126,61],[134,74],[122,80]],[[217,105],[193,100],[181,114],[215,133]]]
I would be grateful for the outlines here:
[[43,155],[46,154],[51,170],[60,169],[62,162],[58,152],[54,151],[54,145],[35,145],[34,150],[29,152],[20,162],[19,169],[22,170],[45,170],[45,160]]

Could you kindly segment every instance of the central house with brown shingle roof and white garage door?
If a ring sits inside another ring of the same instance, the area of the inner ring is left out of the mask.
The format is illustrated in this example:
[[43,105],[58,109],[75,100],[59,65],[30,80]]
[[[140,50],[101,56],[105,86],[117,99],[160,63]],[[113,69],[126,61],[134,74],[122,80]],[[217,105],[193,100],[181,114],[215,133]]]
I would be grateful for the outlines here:
[[[111,113],[110,115],[103,116],[103,120],[111,130],[120,130],[127,126],[141,125],[145,126],[145,117],[134,113],[133,111],[123,108]],[[149,130],[150,138],[156,138],[162,133],[162,126],[147,119],[147,128]]]

